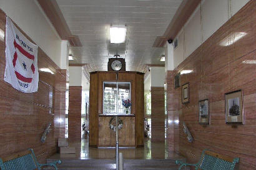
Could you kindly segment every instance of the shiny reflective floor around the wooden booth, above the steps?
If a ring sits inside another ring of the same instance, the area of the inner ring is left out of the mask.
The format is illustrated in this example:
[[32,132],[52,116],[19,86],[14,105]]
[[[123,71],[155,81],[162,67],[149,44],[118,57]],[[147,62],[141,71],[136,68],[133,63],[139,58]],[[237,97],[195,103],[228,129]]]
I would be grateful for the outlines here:
[[[116,159],[116,148],[92,148],[88,139],[69,143],[76,147],[76,154],[54,154],[50,159]],[[119,148],[124,159],[180,159],[182,156],[167,151],[165,143],[151,143],[145,140],[144,148]]]

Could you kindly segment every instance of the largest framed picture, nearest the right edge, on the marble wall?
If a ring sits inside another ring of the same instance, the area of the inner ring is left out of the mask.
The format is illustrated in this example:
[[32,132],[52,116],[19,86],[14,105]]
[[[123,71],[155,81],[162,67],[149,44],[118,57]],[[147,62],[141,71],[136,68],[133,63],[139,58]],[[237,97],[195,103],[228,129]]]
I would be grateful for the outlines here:
[[225,93],[226,123],[244,124],[244,108],[242,90]]

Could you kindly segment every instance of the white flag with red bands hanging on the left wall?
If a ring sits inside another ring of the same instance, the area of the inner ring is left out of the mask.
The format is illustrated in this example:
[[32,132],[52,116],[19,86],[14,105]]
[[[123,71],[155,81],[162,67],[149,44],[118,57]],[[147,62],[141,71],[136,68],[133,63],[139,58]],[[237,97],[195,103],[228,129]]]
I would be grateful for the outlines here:
[[24,93],[37,92],[38,46],[30,42],[6,17],[6,70],[4,81]]

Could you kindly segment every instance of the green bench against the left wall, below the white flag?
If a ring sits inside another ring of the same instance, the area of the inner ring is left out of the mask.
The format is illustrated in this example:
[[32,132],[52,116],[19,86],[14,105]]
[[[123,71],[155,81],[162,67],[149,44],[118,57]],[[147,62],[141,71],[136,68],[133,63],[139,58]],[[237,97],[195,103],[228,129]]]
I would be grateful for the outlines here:
[[57,163],[61,164],[61,160],[49,164],[39,164],[33,149],[27,149],[6,158],[0,158],[1,170],[41,170],[42,166],[53,166],[57,169]]

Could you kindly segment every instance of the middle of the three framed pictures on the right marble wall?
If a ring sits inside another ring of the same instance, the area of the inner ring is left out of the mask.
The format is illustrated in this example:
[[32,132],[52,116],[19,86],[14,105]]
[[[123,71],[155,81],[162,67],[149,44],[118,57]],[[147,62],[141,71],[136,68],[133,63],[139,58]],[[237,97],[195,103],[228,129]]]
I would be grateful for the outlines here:
[[199,124],[209,125],[209,100],[199,101]]

